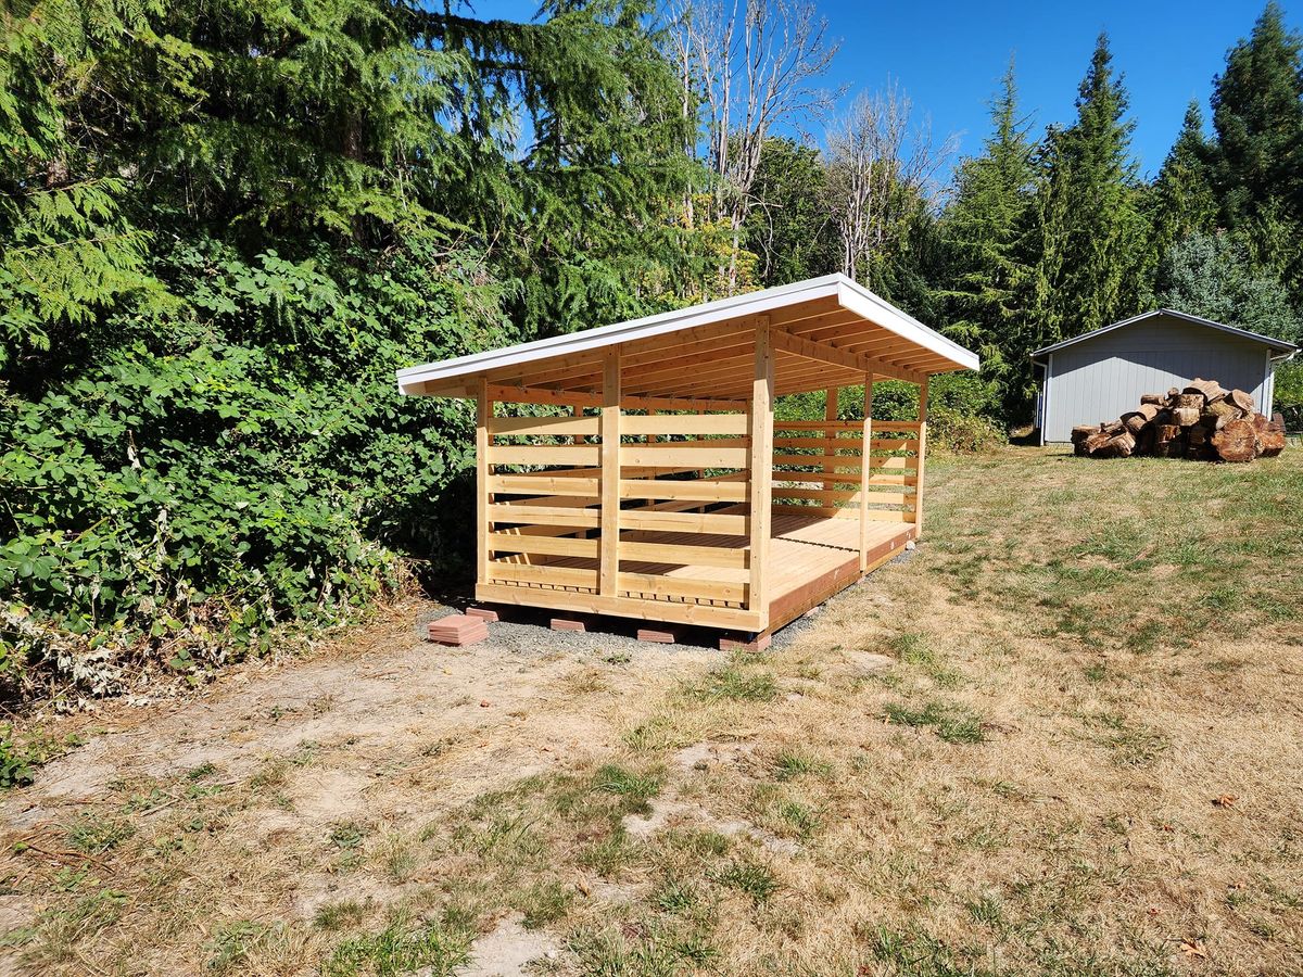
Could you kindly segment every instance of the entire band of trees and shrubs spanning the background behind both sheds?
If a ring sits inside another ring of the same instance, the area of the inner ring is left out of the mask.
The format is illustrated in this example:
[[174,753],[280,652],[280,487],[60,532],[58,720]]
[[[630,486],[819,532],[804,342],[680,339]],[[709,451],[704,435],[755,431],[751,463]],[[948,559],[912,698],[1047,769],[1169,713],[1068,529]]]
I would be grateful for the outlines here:
[[1035,135],[1011,73],[952,186],[895,89],[778,135],[833,103],[796,0],[17,0],[0,30],[4,700],[198,681],[401,586],[399,554],[455,569],[470,413],[399,399],[413,361],[844,270],[976,348],[943,404],[1007,426],[1037,345],[1303,307],[1274,7],[1157,180],[1101,39],[1072,125]]

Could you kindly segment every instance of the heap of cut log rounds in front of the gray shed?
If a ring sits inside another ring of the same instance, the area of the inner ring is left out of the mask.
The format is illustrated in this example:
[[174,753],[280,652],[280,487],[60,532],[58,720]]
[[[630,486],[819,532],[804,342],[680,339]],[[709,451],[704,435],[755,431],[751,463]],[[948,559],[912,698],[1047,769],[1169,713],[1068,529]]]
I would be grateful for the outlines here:
[[1252,461],[1285,449],[1285,422],[1257,413],[1242,389],[1195,378],[1184,389],[1143,395],[1140,406],[1117,421],[1074,427],[1072,447],[1092,459]]

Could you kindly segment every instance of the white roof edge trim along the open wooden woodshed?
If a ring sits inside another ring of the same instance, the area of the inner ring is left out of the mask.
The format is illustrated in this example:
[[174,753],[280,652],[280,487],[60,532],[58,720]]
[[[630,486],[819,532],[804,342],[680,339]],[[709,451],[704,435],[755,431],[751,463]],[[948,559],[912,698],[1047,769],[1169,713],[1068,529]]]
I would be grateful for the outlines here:
[[409,366],[396,371],[399,391],[408,393],[409,387],[417,387],[427,380],[447,380],[503,366],[546,360],[554,356],[581,353],[616,343],[649,339],[667,332],[688,330],[694,326],[705,326],[739,315],[757,315],[792,305],[794,302],[827,297],[835,297],[843,307],[954,361],[959,366],[977,369],[979,360],[975,353],[946,339],[936,330],[924,326],[917,319],[900,311],[855,281],[851,281],[844,275],[833,274],[817,279],[807,279],[805,281],[795,281],[790,285],[766,288],[761,292],[747,292],[740,296],[717,298],[713,302],[704,302],[657,315],[646,315],[641,319],[631,319],[611,326],[582,330],[581,332],[520,343],[504,349],[489,349],[453,360]]

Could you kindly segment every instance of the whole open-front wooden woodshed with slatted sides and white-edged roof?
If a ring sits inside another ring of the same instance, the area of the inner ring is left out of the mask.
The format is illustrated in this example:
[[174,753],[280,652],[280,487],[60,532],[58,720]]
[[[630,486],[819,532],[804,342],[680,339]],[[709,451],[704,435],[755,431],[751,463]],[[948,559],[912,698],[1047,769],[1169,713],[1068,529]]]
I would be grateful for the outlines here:
[[[928,378],[976,367],[829,275],[397,380],[477,404],[478,601],[758,636],[919,537]],[[889,378],[919,384],[917,419],[872,418]],[[865,419],[837,419],[859,384]],[[775,419],[818,389],[826,419]]]

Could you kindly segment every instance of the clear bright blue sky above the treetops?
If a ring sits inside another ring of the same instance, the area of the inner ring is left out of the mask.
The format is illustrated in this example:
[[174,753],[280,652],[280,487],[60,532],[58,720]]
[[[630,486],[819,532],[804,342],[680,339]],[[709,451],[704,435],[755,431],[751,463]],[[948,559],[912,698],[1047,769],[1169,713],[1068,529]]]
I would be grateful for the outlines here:
[[[1199,99],[1210,125],[1213,76],[1222,70],[1227,48],[1248,35],[1265,0],[817,3],[830,34],[842,39],[829,87],[848,85],[850,98],[882,86],[889,76],[898,78],[916,111],[930,115],[938,137],[960,134],[963,154],[981,147],[986,103],[1010,53],[1024,111],[1040,130],[1072,119],[1095,38],[1108,30],[1131,95],[1132,149],[1140,172],[1153,175],[1191,98]],[[478,0],[473,7],[480,17],[511,20],[529,20],[537,10],[530,0]],[[1303,23],[1303,0],[1285,0],[1285,12],[1290,26]]]

